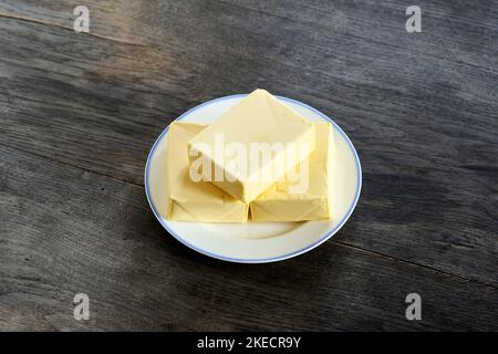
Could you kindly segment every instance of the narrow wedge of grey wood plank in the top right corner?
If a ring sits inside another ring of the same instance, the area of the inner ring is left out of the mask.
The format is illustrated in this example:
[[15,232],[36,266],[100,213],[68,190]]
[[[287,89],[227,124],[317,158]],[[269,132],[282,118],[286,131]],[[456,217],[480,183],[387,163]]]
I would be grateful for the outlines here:
[[466,1],[417,1],[422,10],[422,33],[408,34],[405,22],[407,3],[400,1],[226,1],[252,13],[266,13],[303,22],[317,33],[354,37],[372,44],[395,46],[496,72],[498,3]]

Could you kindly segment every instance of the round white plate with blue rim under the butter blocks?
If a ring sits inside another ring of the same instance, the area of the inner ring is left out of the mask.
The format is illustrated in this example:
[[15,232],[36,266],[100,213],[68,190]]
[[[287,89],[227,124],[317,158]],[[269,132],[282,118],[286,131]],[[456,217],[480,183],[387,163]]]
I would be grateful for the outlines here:
[[[231,95],[203,103],[177,121],[208,124],[242,100],[246,94]],[[279,97],[310,121],[332,122],[323,113],[301,102]],[[226,261],[263,263],[304,253],[332,237],[346,222],[360,197],[362,171],[360,159],[347,135],[332,122],[335,138],[330,220],[304,222],[200,223],[169,221],[164,218],[165,150],[168,128],[159,135],[145,166],[145,191],[160,225],[189,248]]]

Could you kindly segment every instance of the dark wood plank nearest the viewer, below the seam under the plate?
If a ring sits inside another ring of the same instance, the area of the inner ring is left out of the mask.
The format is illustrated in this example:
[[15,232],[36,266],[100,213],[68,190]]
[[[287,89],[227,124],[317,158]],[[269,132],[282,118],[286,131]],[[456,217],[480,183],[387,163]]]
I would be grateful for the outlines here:
[[209,259],[167,237],[142,187],[18,149],[0,147],[0,204],[2,331],[498,329],[495,288],[334,242],[262,267]]

